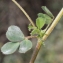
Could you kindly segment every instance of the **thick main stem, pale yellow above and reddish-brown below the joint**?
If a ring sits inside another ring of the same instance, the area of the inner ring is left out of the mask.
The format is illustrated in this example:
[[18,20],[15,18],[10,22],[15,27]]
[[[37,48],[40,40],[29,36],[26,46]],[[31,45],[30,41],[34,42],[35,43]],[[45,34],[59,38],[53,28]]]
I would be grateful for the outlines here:
[[[59,12],[59,14],[57,15],[57,17],[55,18],[55,20],[53,21],[53,23],[51,24],[51,26],[49,27],[49,29],[46,31],[46,33],[44,34],[44,36],[42,37],[42,41],[45,41],[47,39],[47,37],[50,35],[50,33],[52,32],[52,30],[54,29],[54,27],[56,26],[56,24],[59,22],[59,20],[61,19],[63,15],[63,8],[61,9],[61,11]],[[41,48],[41,41],[38,41],[36,48],[32,54],[31,60],[29,63],[34,63],[35,59],[38,55],[38,52]]]

